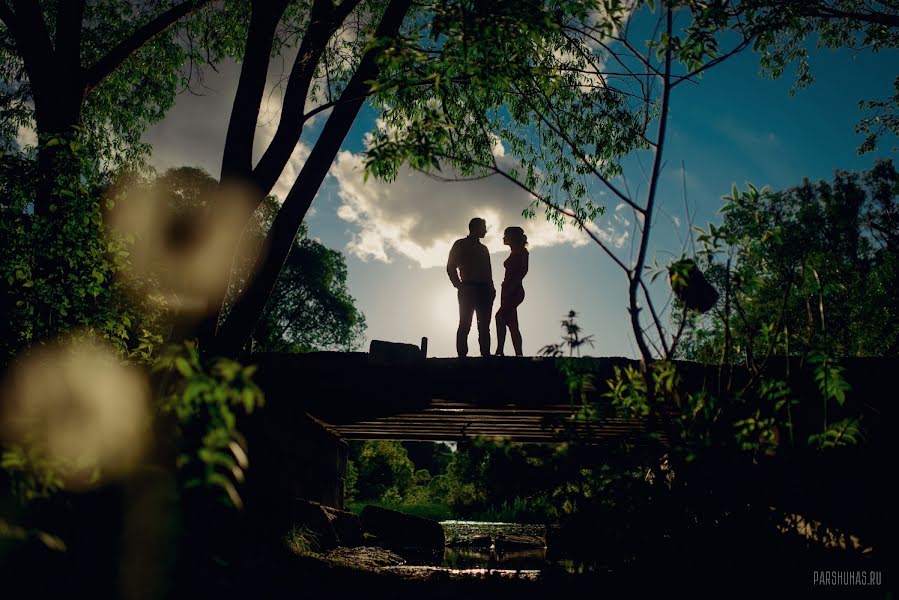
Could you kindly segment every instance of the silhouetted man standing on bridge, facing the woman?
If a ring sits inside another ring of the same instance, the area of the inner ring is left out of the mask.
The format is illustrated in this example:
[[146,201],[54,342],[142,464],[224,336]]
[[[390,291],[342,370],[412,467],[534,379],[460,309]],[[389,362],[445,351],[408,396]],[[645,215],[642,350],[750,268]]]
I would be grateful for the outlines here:
[[459,298],[459,329],[456,330],[456,352],[468,355],[468,332],[471,318],[478,315],[478,345],[481,356],[490,356],[490,313],[496,288],[490,270],[490,253],[480,238],[487,235],[487,222],[475,217],[468,223],[468,237],[456,240],[446,261],[446,273]]

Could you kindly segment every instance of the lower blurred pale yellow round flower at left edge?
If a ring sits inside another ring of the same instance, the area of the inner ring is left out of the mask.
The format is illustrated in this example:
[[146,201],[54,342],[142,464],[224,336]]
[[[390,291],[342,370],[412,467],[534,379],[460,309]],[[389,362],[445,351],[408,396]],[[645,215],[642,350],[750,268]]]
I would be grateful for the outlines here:
[[40,456],[68,489],[127,475],[149,443],[143,372],[77,335],[21,358],[0,393],[0,437]]

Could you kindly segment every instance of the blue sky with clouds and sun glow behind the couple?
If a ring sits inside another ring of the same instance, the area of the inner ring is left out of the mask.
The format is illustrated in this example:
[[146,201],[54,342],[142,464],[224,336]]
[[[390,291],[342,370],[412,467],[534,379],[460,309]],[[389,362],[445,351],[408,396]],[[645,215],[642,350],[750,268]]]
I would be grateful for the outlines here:
[[[804,177],[830,179],[834,169],[863,170],[876,158],[896,158],[895,138],[857,156],[861,136],[853,126],[863,116],[860,100],[891,94],[899,52],[816,49],[811,64],[816,82],[795,95],[789,93],[789,72],[780,80],[760,77],[758,56],[748,51],[710,69],[699,83],[674,90],[650,247],[659,263],[681,254],[691,220],[703,227],[720,222],[721,196],[733,184],[779,189],[798,185]],[[270,81],[282,69],[273,64]],[[147,132],[156,168],[191,165],[218,175],[238,73],[233,64],[207,70],[201,95],[197,88],[179,95],[168,116]],[[258,123],[257,158],[277,125],[278,104],[272,84]],[[311,237],[346,257],[348,288],[368,323],[363,349],[372,339],[419,344],[427,337],[429,356],[455,355],[457,304],[446,255],[453,241],[467,234],[468,221],[480,216],[488,223],[484,242],[497,288],[508,255],[501,243],[503,228],[521,226],[529,238],[530,271],[518,311],[526,356],[561,341],[560,322],[572,309],[584,334],[594,336],[585,355],[637,356],[622,271],[583,232],[559,231],[539,213],[524,219],[521,211],[530,199],[519,189],[497,177],[447,183],[409,171],[390,184],[364,181],[361,152],[377,117],[370,106],[363,108],[306,218]],[[310,127],[313,135],[324,118],[320,115]],[[290,189],[308,143],[298,144],[275,195],[283,197]],[[496,152],[502,154],[503,148]],[[631,160],[626,167],[632,189],[645,189],[640,165]],[[608,197],[599,199],[609,201],[597,231],[627,258],[633,217]],[[670,292],[664,280],[659,278],[654,288],[660,306]],[[475,337],[472,327],[471,348],[477,348]],[[507,342],[507,354],[510,346]]]

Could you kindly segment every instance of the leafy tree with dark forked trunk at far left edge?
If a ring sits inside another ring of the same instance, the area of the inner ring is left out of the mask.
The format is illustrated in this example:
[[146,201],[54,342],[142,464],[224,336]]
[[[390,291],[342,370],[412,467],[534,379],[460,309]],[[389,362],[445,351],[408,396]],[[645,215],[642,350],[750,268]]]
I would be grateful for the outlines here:
[[[208,3],[0,2],[0,149],[20,166],[35,163],[4,173],[27,196],[15,232],[18,271],[28,275],[20,279],[31,282],[16,300],[31,325],[24,343],[83,324],[87,313],[70,310],[68,295],[83,302],[85,289],[100,295],[91,280],[108,284],[97,192],[146,154],[141,134],[172,105],[182,64],[197,57],[176,28]],[[35,150],[16,149],[21,127],[34,128]]]

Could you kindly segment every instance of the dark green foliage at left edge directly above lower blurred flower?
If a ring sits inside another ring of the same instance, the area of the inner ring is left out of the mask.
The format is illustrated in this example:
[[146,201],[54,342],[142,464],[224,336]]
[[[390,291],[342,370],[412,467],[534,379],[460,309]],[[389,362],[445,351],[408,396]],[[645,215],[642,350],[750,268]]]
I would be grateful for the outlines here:
[[56,192],[66,198],[47,215],[33,210],[34,164],[11,155],[0,171],[0,294],[2,363],[34,342],[75,328],[93,328],[124,355],[149,360],[160,342],[162,310],[134,300],[128,292],[143,285],[128,269],[128,240],[111,232],[103,211],[115,201],[105,196],[106,179],[94,158],[74,146],[80,175],[61,174]]

